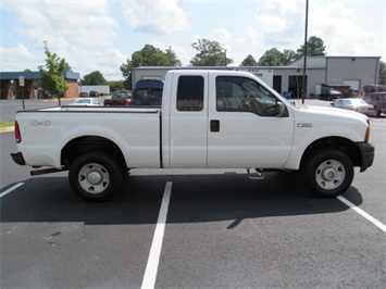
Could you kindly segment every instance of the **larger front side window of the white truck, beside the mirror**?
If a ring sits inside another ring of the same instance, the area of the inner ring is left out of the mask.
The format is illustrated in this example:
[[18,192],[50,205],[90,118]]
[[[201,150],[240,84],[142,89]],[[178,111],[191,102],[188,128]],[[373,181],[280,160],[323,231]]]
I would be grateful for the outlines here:
[[217,111],[251,112],[261,116],[273,116],[279,100],[265,87],[251,78],[239,76],[216,77]]

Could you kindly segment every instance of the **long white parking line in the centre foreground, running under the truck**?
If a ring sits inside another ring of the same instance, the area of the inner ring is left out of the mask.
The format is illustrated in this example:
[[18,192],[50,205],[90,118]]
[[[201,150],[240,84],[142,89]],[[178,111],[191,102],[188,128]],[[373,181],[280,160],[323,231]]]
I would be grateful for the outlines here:
[[171,199],[171,192],[172,192],[172,184],[173,184],[172,181],[167,181],[165,186],[165,190],[163,192],[160,214],[158,216],[153,241],[151,243],[150,254],[148,259],[148,264],[146,266],[141,288],[154,288],[155,285],[158,264],[160,262],[160,255],[161,255],[163,234],[165,231],[165,225],[166,225],[169,201]]

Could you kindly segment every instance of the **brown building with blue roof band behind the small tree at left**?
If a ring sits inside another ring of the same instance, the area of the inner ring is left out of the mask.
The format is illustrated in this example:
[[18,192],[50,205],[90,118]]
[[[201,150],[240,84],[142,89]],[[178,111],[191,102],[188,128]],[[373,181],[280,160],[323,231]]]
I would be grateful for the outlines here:
[[[65,83],[69,90],[65,92],[64,98],[76,98],[78,96],[78,73],[65,72]],[[24,86],[20,81],[23,81]],[[34,99],[49,97],[40,84],[41,75],[39,72],[2,72],[0,73],[0,99]],[[12,83],[14,89],[12,90]]]

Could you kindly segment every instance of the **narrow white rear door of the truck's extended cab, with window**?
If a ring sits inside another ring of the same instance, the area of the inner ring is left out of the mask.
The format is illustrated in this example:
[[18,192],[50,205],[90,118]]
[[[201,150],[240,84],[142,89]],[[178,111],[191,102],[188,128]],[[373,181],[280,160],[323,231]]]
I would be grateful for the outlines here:
[[164,93],[171,92],[163,100],[169,108],[169,115],[163,115],[163,120],[169,118],[163,131],[169,136],[163,141],[164,167],[207,167],[208,72],[175,71],[166,79]]

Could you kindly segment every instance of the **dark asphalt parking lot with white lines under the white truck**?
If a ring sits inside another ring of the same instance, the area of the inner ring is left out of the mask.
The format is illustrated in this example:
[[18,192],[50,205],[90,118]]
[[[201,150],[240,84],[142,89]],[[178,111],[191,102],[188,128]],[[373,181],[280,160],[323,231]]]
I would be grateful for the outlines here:
[[297,174],[134,169],[87,203],[65,173],[29,177],[1,144],[1,288],[384,288],[386,117],[374,164],[319,199]]

